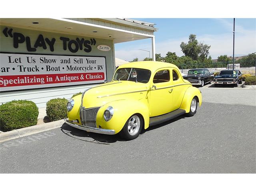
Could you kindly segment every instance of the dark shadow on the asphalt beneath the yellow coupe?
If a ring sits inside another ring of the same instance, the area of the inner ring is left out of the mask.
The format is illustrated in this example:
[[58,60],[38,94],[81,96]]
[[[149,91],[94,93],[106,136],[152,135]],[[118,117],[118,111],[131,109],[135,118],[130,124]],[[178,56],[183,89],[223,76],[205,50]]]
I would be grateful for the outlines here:
[[[155,126],[149,126],[146,130],[142,129],[140,134],[142,135],[145,132],[155,130],[157,128],[160,128],[162,126],[168,125],[172,122],[175,122],[175,121],[178,121],[178,120],[184,119],[184,118],[185,118],[184,116],[179,116],[179,117],[176,117],[172,120],[163,122],[161,124],[158,124],[158,125],[155,125]],[[119,136],[119,134],[106,135],[106,134],[98,134],[98,133],[93,133],[93,132],[86,132],[84,130],[80,130],[80,129],[74,128],[72,126],[69,126],[67,124],[63,124],[60,127],[60,129],[67,136],[70,136],[74,139],[81,140],[81,141],[84,141],[84,142],[109,145],[109,144],[115,143],[117,141],[120,141],[120,142],[127,141],[127,140],[121,138]]]

